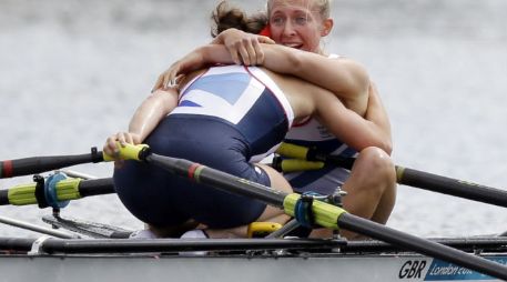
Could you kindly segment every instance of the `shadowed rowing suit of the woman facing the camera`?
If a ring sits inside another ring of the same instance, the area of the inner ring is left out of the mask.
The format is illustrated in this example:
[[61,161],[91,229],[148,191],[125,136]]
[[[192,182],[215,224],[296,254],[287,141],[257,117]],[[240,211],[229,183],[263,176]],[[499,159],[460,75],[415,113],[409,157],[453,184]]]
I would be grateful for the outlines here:
[[[336,54],[329,58],[338,58]],[[357,151],[336,139],[324,125],[312,118],[288,131],[284,142],[316,148],[317,151],[341,157],[355,157]],[[342,168],[324,168],[314,171],[284,173],[296,192],[313,191],[332,194],[348,178],[351,172]]]

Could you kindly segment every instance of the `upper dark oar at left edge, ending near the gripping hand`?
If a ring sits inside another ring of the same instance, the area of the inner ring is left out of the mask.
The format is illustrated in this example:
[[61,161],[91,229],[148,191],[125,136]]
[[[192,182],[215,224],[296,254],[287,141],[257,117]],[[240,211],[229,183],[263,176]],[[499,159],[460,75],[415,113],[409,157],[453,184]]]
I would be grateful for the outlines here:
[[0,179],[30,175],[71,165],[102,162],[102,151],[92,148],[90,153],[69,155],[31,157],[17,160],[0,161]]

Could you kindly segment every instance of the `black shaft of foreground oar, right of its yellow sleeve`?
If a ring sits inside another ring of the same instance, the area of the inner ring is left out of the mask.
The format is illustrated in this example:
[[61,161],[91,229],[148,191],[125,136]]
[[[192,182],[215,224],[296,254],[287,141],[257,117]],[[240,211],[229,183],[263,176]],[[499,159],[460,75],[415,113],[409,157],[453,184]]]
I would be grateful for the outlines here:
[[488,261],[480,256],[458,251],[450,246],[442,245],[429,240],[424,240],[397,230],[381,225],[378,223],[352,215],[343,214],[338,219],[338,225],[359,234],[365,234],[384,242],[388,242],[406,250],[415,251],[433,258],[455,263],[488,274],[495,278],[507,280],[507,266]]

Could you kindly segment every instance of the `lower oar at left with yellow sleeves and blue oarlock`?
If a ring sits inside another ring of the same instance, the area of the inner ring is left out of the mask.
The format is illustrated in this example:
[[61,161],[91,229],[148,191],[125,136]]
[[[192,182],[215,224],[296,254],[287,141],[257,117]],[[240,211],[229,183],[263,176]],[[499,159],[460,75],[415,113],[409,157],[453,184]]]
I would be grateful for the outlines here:
[[[40,190],[42,192],[39,194],[38,191]],[[39,207],[45,208],[51,205],[47,201],[48,197],[45,194],[48,193],[52,194],[54,203],[61,203],[90,195],[114,193],[114,185],[111,178],[91,180],[61,179],[42,187],[40,182],[19,184],[10,189],[0,190],[0,205],[39,204]]]

